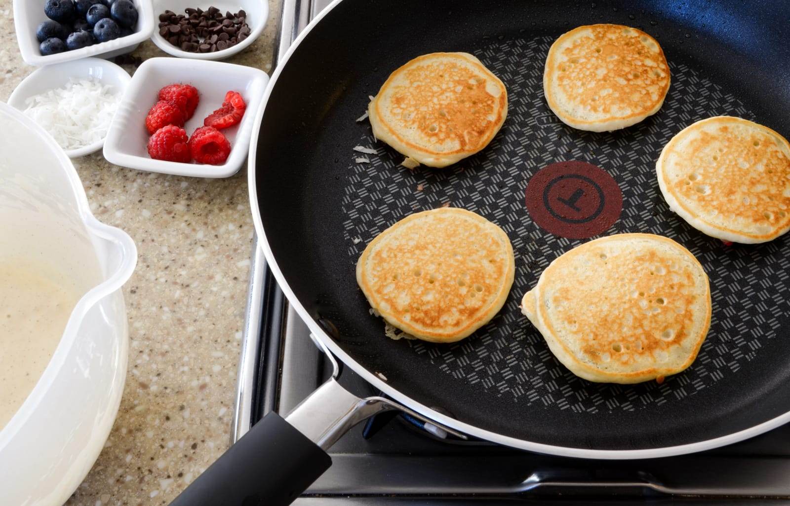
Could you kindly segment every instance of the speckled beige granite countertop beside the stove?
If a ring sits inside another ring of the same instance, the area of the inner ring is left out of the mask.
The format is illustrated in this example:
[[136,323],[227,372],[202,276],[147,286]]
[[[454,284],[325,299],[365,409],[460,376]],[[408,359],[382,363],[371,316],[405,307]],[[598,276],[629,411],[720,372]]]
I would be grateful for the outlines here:
[[[43,3],[43,0],[42,0]],[[280,17],[226,60],[269,73]],[[0,99],[35,70],[19,55],[11,0],[0,0]],[[150,41],[133,56],[167,56]],[[134,66],[124,66],[130,73]],[[254,227],[246,166],[227,179],[73,160],[96,217],[137,242],[123,296],[129,371],[118,418],[69,506],[168,504],[230,443]]]

